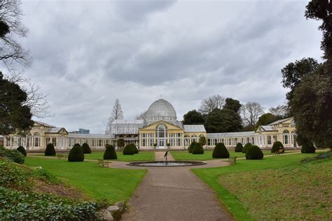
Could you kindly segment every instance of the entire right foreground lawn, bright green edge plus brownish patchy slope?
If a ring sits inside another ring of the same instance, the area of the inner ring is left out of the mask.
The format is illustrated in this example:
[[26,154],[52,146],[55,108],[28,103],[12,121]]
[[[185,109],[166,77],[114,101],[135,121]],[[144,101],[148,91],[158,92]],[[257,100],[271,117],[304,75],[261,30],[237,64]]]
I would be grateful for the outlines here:
[[300,164],[312,156],[239,160],[234,166],[192,171],[216,191],[236,220],[321,220],[331,208],[332,166],[331,161]]

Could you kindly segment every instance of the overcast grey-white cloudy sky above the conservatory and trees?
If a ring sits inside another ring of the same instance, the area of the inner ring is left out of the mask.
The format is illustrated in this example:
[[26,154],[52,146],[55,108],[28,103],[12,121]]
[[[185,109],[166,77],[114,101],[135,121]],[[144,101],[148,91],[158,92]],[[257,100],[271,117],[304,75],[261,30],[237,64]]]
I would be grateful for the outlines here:
[[320,59],[307,1],[23,1],[28,78],[55,117],[103,133],[115,99],[125,119],[160,95],[184,113],[213,94],[283,104],[282,69]]

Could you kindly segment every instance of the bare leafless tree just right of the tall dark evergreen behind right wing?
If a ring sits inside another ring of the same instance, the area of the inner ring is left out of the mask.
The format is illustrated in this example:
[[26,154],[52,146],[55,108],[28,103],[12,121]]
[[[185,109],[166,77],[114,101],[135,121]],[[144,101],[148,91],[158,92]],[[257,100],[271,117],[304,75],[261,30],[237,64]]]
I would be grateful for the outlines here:
[[258,118],[264,113],[263,107],[257,102],[248,102],[242,104],[241,114],[244,124],[247,126],[254,126],[258,122]]

